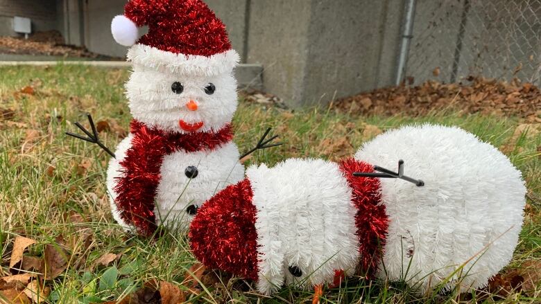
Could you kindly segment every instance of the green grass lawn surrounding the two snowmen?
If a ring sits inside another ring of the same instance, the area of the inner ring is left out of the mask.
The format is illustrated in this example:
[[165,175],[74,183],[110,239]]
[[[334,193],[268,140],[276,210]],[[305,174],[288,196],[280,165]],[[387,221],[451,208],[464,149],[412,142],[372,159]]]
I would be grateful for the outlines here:
[[[97,147],[64,135],[76,131],[71,123],[85,122],[84,112],[94,119],[117,120],[127,129],[130,114],[123,97],[123,82],[128,71],[102,70],[82,66],[50,68],[10,67],[0,69],[1,109],[13,109],[15,116],[0,118],[0,248],[1,275],[8,275],[12,240],[25,235],[37,240],[30,256],[41,256],[46,244],[58,235],[83,242],[84,231],[92,231],[92,244],[85,252],[74,254],[64,274],[47,284],[53,292],[49,303],[91,303],[112,301],[130,293],[148,280],[182,282],[194,262],[184,235],[166,233],[159,240],[126,235],[110,216],[105,193],[105,170],[108,155]],[[16,93],[33,85],[35,95]],[[248,163],[274,164],[289,157],[348,156],[370,139],[364,130],[375,125],[385,130],[405,123],[442,123],[458,125],[505,151],[522,170],[529,188],[529,209],[521,242],[509,269],[526,260],[541,260],[541,157],[537,148],[541,134],[513,136],[521,123],[517,118],[459,115],[453,111],[426,117],[359,117],[338,114],[333,109],[313,108],[286,111],[241,102],[234,118],[235,141],[241,151],[248,150],[264,132],[273,127],[284,145],[258,152]],[[37,130],[37,138],[26,142],[28,129]],[[114,148],[119,141],[114,132],[101,134]],[[91,163],[86,170],[82,163]],[[54,168],[54,169],[52,169]],[[48,174],[49,171],[49,174]],[[79,213],[85,224],[71,224],[66,215]],[[77,232],[78,231],[78,232]],[[82,246],[80,246],[82,247]],[[79,250],[81,251],[81,250]],[[103,253],[122,253],[109,267],[91,267]],[[81,267],[75,267],[78,260]],[[259,296],[243,280],[225,280],[209,284],[191,302],[212,303],[302,303],[311,301],[312,293],[296,289],[268,298]],[[419,296],[401,283],[350,278],[341,289],[327,290],[322,301],[329,303],[535,303],[541,292],[512,293],[497,297],[487,292],[459,296],[456,292]],[[472,297],[474,300],[472,300]],[[536,298],[537,297],[537,298]]]

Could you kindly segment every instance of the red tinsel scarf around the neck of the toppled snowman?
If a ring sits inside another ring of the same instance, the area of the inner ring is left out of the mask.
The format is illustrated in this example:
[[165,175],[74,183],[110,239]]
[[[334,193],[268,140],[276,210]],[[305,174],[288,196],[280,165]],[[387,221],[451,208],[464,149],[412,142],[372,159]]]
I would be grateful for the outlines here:
[[359,238],[361,274],[373,277],[382,256],[389,226],[381,204],[379,179],[354,177],[354,172],[374,172],[372,165],[355,159],[341,161],[340,168],[352,188],[352,203],[357,207],[355,226]]

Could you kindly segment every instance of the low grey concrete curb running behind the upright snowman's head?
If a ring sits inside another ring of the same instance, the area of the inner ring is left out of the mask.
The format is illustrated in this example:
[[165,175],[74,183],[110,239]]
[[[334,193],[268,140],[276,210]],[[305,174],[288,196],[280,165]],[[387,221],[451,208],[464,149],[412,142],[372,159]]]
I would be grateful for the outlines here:
[[[127,69],[132,66],[125,61],[0,61],[0,66],[55,66],[82,65],[105,69]],[[263,90],[263,66],[259,64],[239,64],[235,70],[239,89]]]

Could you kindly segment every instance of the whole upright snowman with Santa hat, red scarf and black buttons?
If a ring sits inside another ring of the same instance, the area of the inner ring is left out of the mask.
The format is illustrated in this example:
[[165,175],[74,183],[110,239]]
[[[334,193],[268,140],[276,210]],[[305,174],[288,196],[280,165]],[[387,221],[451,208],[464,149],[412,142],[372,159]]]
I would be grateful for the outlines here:
[[[148,33],[139,38],[141,26]],[[130,0],[111,28],[133,64],[130,134],[108,168],[114,219],[142,235],[187,226],[203,202],[243,178],[230,124],[239,55],[200,0]]]

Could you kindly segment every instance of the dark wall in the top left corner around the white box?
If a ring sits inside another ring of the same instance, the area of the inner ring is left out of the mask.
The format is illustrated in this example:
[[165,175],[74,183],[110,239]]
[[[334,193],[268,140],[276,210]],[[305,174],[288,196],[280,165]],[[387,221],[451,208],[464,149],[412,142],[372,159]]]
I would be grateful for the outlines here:
[[56,24],[55,0],[0,0],[0,35],[16,36],[14,16],[32,19],[32,30],[54,30]]

